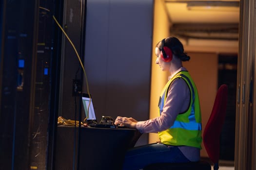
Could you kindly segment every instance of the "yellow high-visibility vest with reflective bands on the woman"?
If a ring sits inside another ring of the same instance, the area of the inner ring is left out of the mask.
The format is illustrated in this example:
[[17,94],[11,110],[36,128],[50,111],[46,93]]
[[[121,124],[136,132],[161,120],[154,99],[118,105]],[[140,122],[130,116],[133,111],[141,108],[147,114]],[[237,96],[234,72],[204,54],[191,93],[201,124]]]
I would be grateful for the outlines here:
[[184,113],[179,113],[174,121],[174,124],[167,130],[158,132],[158,136],[162,143],[166,145],[174,146],[192,146],[201,149],[201,111],[199,104],[199,97],[197,93],[197,87],[192,80],[188,71],[178,72],[172,79],[170,79],[164,86],[159,103],[159,115],[163,110],[164,103],[167,98],[168,89],[172,82],[177,79],[182,78],[188,85],[190,89],[191,99],[190,105],[187,111]]

